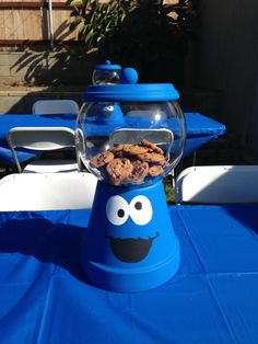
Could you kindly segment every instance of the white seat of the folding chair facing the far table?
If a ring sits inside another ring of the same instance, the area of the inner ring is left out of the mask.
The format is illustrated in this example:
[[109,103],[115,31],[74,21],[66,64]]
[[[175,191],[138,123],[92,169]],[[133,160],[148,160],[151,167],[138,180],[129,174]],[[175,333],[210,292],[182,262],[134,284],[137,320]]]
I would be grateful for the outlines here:
[[23,173],[58,173],[78,172],[78,163],[74,160],[35,160],[30,162]]

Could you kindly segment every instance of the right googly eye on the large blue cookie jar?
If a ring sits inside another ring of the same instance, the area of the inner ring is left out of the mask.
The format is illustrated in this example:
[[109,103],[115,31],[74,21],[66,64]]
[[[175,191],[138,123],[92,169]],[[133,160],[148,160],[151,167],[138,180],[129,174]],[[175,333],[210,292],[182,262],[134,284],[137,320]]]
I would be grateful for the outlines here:
[[130,202],[130,216],[139,226],[146,225],[152,219],[152,206],[149,198],[139,195]]

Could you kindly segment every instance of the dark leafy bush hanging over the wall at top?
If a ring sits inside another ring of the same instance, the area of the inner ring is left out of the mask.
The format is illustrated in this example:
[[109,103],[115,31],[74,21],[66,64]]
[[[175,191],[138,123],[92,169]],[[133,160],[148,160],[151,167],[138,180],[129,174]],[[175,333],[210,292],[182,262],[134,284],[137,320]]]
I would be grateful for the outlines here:
[[[177,78],[189,42],[198,31],[198,0],[68,0],[74,7],[71,30],[86,50],[96,48],[106,58],[136,67],[142,81]],[[141,81],[141,80],[140,80]],[[169,80],[168,80],[169,81]]]

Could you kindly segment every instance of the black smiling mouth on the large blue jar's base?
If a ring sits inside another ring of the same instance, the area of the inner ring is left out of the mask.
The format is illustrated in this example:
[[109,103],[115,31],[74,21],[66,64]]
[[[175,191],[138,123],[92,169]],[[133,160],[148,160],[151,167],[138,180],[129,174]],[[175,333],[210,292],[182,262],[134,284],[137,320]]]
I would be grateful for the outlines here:
[[106,238],[110,241],[113,254],[125,263],[138,263],[142,261],[148,255],[153,240],[157,237],[159,232],[156,232],[155,237],[149,239],[121,239],[106,234]]

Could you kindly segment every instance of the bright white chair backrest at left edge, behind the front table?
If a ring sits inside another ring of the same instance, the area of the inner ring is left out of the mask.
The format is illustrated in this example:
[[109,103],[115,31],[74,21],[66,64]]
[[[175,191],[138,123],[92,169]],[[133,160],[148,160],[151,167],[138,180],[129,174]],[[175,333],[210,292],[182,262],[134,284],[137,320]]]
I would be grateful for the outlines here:
[[15,173],[0,180],[0,210],[91,208],[97,179],[91,173]]

